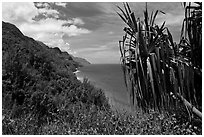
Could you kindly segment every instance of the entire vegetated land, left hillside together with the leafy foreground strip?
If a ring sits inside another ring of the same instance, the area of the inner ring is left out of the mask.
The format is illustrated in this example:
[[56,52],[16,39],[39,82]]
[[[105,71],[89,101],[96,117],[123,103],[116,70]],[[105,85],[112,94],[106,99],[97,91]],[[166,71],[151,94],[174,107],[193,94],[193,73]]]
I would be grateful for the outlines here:
[[76,79],[78,64],[68,53],[4,22],[2,54],[3,134],[201,133],[175,115],[113,112],[100,89]]

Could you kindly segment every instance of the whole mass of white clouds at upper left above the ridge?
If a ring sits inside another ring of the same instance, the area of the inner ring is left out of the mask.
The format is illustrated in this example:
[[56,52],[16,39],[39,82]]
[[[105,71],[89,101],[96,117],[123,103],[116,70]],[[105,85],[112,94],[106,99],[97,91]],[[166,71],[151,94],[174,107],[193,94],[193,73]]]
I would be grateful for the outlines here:
[[[71,37],[90,33],[89,30],[76,26],[83,25],[84,22],[80,18],[70,20],[56,19],[59,15],[57,10],[50,9],[49,4],[37,4],[37,6],[41,7],[40,9],[37,9],[34,3],[3,3],[3,21],[15,24],[25,35],[42,41],[50,47],[59,47],[63,51],[76,54],[75,51],[71,50],[69,43],[63,40],[63,35],[66,34]],[[62,3],[57,4],[63,6]],[[56,18],[46,18],[39,21],[32,20],[39,13],[46,16],[52,15]],[[63,24],[67,23],[71,25],[63,26]]]

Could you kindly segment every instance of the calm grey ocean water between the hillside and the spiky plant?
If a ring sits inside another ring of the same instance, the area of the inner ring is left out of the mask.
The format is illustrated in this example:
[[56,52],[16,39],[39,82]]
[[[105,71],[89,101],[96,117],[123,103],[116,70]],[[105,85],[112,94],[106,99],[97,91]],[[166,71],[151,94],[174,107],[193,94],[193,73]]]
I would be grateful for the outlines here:
[[95,87],[102,89],[112,108],[131,111],[120,64],[91,64],[79,68],[75,74],[79,80],[88,78]]

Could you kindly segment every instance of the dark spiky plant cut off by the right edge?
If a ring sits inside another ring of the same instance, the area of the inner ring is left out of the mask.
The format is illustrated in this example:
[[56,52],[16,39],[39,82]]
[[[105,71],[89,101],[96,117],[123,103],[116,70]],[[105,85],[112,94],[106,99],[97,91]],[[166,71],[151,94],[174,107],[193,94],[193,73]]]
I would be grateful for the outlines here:
[[202,3],[184,3],[185,19],[179,43],[180,54],[191,63],[195,104],[202,105]]

